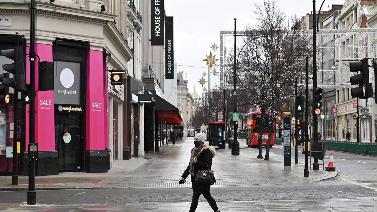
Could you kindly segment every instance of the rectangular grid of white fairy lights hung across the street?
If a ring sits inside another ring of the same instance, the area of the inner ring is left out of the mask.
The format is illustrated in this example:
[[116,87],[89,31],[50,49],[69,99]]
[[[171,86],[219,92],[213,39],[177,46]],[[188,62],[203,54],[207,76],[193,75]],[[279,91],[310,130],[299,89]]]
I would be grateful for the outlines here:
[[[307,31],[311,37],[311,31]],[[237,31],[237,34],[247,34]],[[331,29],[317,34],[317,84],[323,89],[349,88],[350,60],[377,58],[377,29]],[[233,87],[225,81],[224,37],[234,36],[234,31],[220,32],[220,83],[222,89]],[[311,40],[311,39],[310,39]],[[311,59],[311,57],[310,57]],[[226,62],[226,61],[225,61]],[[310,61],[313,63],[313,61]],[[302,70],[305,74],[305,70]],[[374,81],[373,72],[369,72]]]

